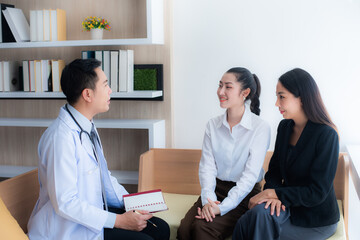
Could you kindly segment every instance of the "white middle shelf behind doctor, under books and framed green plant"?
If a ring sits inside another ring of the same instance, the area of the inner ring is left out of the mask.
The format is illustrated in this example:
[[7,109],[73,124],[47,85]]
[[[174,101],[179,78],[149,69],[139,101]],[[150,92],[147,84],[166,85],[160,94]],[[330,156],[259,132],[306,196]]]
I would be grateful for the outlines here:
[[[113,92],[112,99],[152,99],[162,97],[163,91],[133,91],[133,92]],[[28,98],[47,98],[47,99],[65,99],[62,92],[0,92],[0,99],[28,99]]]

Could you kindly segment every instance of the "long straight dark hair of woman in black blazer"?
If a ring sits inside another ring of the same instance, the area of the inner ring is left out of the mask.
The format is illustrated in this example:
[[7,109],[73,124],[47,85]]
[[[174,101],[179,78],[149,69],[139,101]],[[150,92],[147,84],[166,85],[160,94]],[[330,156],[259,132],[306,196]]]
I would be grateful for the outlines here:
[[337,131],[321,98],[319,88],[313,77],[303,69],[295,68],[279,78],[280,83],[295,97],[300,97],[307,118],[326,124]]

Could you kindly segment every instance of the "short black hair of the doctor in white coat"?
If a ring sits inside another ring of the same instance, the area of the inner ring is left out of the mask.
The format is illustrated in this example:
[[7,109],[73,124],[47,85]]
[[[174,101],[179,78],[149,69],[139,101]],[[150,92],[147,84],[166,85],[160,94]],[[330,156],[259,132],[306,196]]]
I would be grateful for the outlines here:
[[96,59],[75,59],[65,66],[61,74],[61,89],[70,105],[75,104],[85,88],[95,90],[98,76],[95,68],[101,66]]

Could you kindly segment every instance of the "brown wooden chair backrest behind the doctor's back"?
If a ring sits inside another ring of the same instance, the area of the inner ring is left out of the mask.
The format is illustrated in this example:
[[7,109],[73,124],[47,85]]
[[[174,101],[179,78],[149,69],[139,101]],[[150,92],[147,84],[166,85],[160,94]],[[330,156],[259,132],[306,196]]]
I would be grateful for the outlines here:
[[0,197],[25,233],[39,188],[37,169],[0,182]]

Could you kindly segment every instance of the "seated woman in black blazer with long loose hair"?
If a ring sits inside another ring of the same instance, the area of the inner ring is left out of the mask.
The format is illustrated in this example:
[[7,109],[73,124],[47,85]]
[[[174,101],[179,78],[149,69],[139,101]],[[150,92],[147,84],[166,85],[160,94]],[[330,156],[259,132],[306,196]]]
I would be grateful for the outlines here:
[[283,115],[264,191],[252,197],[233,239],[327,239],[339,221],[333,181],[339,139],[309,73],[279,78],[276,106]]

